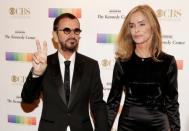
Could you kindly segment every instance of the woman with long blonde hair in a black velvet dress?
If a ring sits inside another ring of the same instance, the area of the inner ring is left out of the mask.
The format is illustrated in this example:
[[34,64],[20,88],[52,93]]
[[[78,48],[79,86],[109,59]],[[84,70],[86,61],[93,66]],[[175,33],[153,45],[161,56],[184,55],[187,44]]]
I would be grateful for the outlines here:
[[107,100],[110,128],[124,91],[118,131],[180,131],[176,61],[162,51],[160,25],[150,6],[128,13],[116,49]]

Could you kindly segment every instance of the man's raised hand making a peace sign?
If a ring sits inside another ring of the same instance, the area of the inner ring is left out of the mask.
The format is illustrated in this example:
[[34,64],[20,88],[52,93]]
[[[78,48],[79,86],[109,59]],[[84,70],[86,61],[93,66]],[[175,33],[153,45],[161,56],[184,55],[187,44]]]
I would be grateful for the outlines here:
[[32,57],[32,73],[41,76],[47,68],[47,42],[43,42],[43,46],[41,46],[39,40],[36,40],[36,46],[37,52]]

